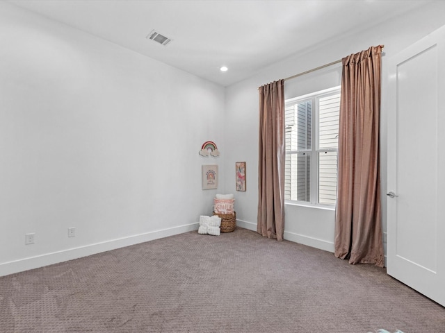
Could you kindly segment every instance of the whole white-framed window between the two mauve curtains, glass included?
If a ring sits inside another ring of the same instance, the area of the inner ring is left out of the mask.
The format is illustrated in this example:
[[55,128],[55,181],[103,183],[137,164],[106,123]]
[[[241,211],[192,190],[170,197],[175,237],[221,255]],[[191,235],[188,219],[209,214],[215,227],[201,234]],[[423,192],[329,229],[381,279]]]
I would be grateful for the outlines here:
[[334,205],[340,87],[286,100],[286,200]]

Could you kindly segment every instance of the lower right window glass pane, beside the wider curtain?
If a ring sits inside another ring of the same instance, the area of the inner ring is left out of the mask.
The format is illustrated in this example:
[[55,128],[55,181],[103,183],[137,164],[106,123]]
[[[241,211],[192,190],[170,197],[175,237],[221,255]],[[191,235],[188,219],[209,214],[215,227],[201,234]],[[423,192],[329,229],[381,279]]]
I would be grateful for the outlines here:
[[318,203],[332,205],[337,198],[337,151],[318,153]]

